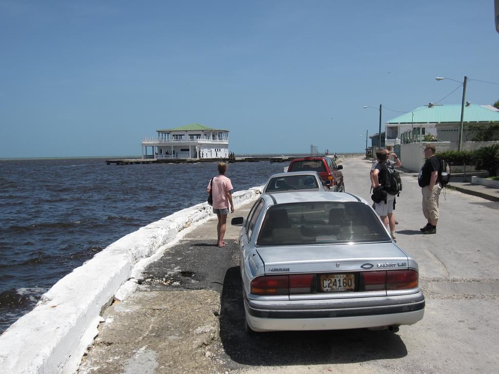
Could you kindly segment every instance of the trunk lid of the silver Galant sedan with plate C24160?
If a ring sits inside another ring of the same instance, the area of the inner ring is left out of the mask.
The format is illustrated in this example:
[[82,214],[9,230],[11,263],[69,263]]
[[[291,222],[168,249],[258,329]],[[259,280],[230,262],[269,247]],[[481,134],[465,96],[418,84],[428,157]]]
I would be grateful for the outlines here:
[[261,279],[284,282],[284,289],[287,284],[290,300],[380,297],[400,276],[416,277],[417,284],[406,254],[391,242],[258,247],[257,251],[265,268]]

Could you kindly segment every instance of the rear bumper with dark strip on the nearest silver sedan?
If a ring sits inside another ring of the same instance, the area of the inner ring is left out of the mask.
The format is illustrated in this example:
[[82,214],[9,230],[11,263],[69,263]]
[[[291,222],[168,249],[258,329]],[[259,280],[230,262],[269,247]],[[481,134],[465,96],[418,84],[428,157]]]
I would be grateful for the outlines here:
[[[280,304],[281,308],[277,305],[263,307],[262,302],[255,303],[247,299],[245,312],[248,325],[254,331],[342,330],[412,325],[424,316],[425,299],[421,292],[384,299],[385,303],[382,303],[380,298],[374,298],[373,306],[367,306],[369,302],[365,299],[362,303],[359,303],[360,300],[352,300],[351,303],[342,300],[339,305],[321,305],[321,309],[313,309],[311,304],[301,305],[301,308],[297,305],[290,308],[283,304]],[[256,307],[258,305],[260,308]]]

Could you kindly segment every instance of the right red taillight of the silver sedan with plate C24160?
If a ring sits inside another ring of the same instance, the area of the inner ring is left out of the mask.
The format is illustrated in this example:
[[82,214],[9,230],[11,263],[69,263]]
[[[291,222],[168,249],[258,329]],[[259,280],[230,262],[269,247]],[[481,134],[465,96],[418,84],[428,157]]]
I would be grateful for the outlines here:
[[416,287],[418,287],[418,272],[415,270],[360,273],[359,291],[409,290]]

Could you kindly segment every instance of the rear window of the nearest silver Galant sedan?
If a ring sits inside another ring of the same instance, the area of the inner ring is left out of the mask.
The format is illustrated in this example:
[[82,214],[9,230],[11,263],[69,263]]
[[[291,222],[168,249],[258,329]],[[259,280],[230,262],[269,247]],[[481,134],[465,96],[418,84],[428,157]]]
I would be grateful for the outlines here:
[[376,213],[362,202],[297,202],[265,212],[258,246],[365,243],[391,238]]

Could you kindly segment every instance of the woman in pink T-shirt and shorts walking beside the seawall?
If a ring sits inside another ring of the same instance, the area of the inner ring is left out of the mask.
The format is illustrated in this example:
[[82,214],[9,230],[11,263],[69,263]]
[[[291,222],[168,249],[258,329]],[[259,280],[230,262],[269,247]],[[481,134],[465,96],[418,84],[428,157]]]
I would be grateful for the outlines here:
[[218,217],[217,243],[219,247],[225,247],[227,243],[224,241],[224,235],[227,224],[227,214],[229,214],[229,204],[231,213],[234,213],[234,202],[232,200],[234,187],[232,187],[231,180],[225,176],[227,164],[219,163],[218,171],[219,175],[213,178],[212,183],[208,184],[206,193],[210,194],[210,191],[213,189],[213,212],[216,213]]

